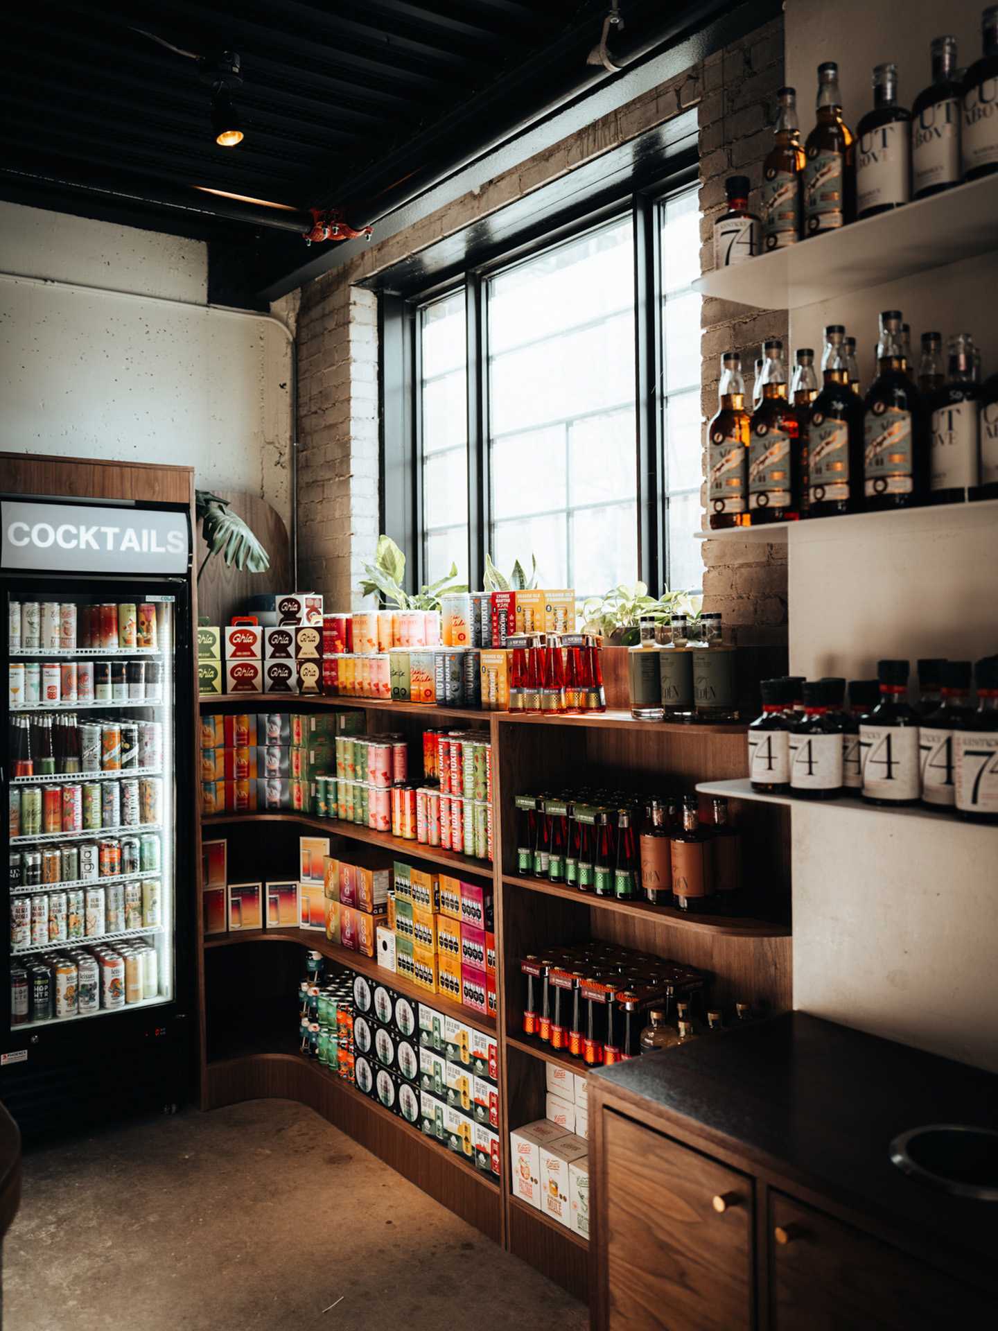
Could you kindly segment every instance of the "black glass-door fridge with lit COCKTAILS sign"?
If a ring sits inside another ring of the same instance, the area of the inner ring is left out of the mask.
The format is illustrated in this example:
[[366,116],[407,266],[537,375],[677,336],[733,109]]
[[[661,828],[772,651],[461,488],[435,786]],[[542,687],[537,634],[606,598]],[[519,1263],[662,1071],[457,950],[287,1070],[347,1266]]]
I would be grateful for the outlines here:
[[188,1093],[190,518],[17,496],[0,523],[0,1099],[35,1135]]

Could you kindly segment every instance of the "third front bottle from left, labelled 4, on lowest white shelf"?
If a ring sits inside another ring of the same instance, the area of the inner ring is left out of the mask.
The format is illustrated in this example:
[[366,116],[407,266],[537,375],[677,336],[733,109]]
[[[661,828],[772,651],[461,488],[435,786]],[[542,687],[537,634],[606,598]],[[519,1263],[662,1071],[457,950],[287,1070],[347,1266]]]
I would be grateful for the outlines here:
[[921,793],[918,713],[908,703],[908,662],[877,662],[880,703],[860,721],[862,799],[917,804]]

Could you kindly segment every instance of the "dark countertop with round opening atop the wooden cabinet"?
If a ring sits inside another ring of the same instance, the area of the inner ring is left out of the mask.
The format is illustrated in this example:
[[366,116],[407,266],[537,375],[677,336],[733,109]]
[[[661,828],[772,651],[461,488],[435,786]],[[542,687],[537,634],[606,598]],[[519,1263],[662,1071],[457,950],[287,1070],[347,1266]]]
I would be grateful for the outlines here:
[[[596,1071],[627,1113],[643,1107],[921,1243],[994,1262],[998,1202],[950,1197],[890,1163],[929,1123],[998,1127],[998,1077],[804,1013]],[[625,1105],[640,1097],[641,1106]],[[919,1246],[921,1246],[919,1243]]]

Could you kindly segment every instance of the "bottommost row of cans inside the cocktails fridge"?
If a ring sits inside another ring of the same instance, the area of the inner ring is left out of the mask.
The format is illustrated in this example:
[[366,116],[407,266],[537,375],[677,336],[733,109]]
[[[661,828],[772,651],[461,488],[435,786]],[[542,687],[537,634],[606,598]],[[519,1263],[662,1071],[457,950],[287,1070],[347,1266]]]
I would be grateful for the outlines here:
[[149,944],[47,952],[28,966],[11,966],[11,1025],[89,1017],[158,993],[160,958]]

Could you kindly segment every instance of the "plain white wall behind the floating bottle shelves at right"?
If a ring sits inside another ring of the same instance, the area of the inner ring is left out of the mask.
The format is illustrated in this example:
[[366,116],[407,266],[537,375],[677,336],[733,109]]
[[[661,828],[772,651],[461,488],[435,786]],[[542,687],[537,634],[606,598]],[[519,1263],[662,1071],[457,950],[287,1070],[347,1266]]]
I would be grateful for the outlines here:
[[[874,64],[898,64],[901,101],[910,106],[930,77],[933,37],[951,33],[961,64],[973,63],[981,8],[982,0],[788,0],[786,81],[797,88],[804,134],[822,60],[838,61],[844,114],[856,128],[872,105]],[[923,330],[966,330],[990,374],[998,369],[997,289],[995,256],[869,286],[792,311],[790,347],[817,349],[826,322],[845,323],[860,339],[869,382],[877,313],[901,309],[915,355]],[[994,652],[995,548],[993,504],[922,510],[889,526],[802,524],[789,539],[790,669],[869,677],[881,656],[908,656],[914,668],[918,656]],[[957,820],[797,805],[792,820],[794,1006],[998,1071],[998,833]]]

